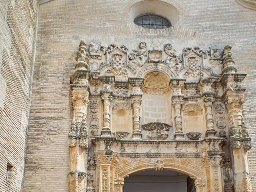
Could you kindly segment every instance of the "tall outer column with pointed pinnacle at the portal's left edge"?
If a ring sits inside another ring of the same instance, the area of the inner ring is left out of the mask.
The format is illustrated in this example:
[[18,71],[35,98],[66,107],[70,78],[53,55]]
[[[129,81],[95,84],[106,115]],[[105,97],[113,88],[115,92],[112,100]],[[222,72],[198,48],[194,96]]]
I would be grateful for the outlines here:
[[73,102],[73,119],[70,126],[68,190],[78,192],[86,190],[88,128],[87,107],[89,102],[89,59],[86,43],[80,42],[75,72],[70,77]]

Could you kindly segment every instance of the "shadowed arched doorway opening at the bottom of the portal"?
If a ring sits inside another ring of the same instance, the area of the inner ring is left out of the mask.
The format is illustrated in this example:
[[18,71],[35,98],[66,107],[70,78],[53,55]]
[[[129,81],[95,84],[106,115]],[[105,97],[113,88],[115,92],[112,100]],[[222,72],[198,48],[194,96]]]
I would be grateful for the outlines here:
[[124,179],[123,192],[196,192],[194,180],[171,170],[145,170]]

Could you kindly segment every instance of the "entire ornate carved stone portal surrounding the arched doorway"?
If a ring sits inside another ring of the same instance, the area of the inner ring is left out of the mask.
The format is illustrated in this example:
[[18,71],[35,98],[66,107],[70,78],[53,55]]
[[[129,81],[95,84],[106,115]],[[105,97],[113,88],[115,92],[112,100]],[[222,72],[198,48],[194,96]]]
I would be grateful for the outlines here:
[[189,176],[196,192],[252,192],[246,74],[237,73],[231,47],[152,47],[80,42],[69,191],[122,192],[129,174],[166,169]]

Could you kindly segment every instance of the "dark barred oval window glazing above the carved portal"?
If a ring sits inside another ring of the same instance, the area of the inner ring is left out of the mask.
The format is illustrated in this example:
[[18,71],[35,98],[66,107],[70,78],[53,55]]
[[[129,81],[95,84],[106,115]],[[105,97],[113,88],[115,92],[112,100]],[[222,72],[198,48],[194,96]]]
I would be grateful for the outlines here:
[[150,29],[164,29],[172,26],[167,18],[156,14],[142,14],[134,19],[134,23]]

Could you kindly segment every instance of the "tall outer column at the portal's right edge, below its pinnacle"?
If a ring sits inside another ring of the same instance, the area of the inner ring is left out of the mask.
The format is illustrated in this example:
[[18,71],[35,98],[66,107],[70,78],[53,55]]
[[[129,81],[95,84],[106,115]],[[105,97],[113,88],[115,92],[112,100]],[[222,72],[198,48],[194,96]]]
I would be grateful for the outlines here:
[[245,74],[224,73],[221,81],[224,85],[224,101],[228,110],[230,125],[230,148],[233,162],[235,191],[252,192],[248,176],[246,151],[250,149],[250,137],[242,118],[242,104],[245,89],[242,80]]

